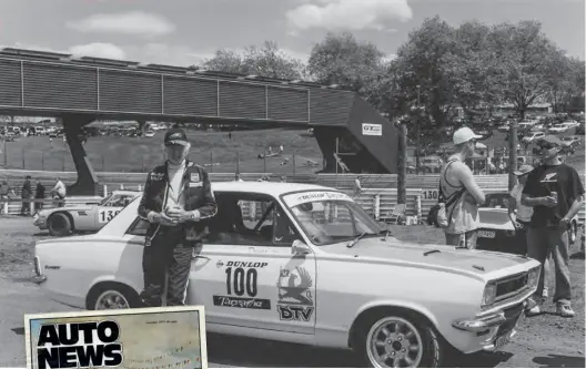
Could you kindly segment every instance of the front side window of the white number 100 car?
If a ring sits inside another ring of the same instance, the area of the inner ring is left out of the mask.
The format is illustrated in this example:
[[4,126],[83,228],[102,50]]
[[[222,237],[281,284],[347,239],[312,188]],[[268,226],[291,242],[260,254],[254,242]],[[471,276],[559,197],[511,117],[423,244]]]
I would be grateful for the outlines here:
[[209,222],[206,244],[290,247],[299,238],[279,203],[264,194],[215,194],[218,214]]

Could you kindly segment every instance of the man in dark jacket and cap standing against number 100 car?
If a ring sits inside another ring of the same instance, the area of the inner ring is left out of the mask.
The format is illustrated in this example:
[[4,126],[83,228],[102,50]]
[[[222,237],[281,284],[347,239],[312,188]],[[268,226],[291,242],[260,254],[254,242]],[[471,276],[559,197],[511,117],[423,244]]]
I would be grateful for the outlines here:
[[183,130],[169,130],[166,161],[149,173],[144,185],[139,215],[150,223],[142,258],[145,306],[163,304],[165,281],[166,305],[185,304],[192,255],[201,250],[205,232],[201,221],[216,213],[208,172],[186,160],[190,148]]

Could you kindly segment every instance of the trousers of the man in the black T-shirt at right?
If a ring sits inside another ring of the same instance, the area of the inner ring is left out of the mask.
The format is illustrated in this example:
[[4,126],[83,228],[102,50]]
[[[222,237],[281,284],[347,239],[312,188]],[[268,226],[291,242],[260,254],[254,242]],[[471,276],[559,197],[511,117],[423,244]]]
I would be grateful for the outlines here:
[[[539,284],[534,295],[534,303],[542,301],[544,289],[544,264],[548,253],[555,266],[554,303],[570,305],[572,289],[569,284],[569,239],[568,229],[529,228],[527,233],[527,256],[542,264]],[[550,267],[550,266],[549,266]]]

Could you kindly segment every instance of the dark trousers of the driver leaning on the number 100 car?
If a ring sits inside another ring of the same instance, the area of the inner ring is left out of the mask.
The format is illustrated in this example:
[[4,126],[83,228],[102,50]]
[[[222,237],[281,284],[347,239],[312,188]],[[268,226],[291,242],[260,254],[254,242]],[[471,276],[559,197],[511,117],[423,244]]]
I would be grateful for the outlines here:
[[165,305],[185,305],[192,255],[193,247],[184,245],[183,232],[179,227],[159,229],[142,254],[144,290],[141,299],[145,306],[163,305],[165,284]]

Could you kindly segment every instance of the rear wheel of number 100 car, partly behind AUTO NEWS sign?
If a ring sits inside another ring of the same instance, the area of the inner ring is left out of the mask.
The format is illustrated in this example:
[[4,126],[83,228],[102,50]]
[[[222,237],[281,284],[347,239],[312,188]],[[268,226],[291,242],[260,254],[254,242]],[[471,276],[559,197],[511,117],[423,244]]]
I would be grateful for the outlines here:
[[88,310],[132,309],[141,307],[139,294],[121,284],[107,283],[98,285],[88,294]]

